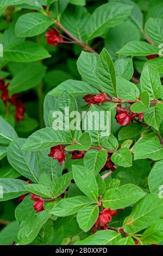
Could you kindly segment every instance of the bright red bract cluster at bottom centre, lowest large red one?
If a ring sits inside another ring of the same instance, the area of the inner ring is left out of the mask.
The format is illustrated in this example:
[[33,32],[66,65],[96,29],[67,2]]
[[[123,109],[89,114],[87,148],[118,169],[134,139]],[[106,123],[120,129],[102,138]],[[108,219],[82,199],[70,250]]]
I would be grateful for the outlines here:
[[91,228],[93,233],[100,229],[108,229],[108,222],[111,222],[112,217],[116,216],[118,214],[117,210],[111,210],[110,208],[103,208],[101,212],[99,212],[98,219]]

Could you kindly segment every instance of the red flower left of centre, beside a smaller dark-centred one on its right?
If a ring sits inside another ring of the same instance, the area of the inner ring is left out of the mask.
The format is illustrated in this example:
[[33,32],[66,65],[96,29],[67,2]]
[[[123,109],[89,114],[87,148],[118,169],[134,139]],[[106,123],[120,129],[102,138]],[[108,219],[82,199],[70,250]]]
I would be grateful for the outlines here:
[[60,165],[64,164],[66,160],[65,147],[63,145],[52,147],[51,153],[48,156],[53,157],[53,159],[58,159]]

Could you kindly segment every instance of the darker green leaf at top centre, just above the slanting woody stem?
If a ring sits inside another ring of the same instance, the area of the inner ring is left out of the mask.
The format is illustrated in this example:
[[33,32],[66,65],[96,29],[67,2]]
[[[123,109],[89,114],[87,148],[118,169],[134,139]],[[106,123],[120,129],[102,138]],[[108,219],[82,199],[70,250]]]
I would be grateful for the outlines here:
[[61,15],[61,24],[77,39],[86,40],[85,27],[90,17],[87,9],[71,5]]

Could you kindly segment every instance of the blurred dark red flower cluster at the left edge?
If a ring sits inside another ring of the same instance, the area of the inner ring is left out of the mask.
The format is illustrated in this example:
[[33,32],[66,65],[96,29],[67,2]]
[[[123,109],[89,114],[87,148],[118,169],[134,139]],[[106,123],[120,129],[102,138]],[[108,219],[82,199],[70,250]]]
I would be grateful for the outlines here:
[[24,119],[24,113],[26,112],[26,107],[23,106],[22,101],[20,100],[19,94],[13,94],[12,97],[9,97],[9,87],[10,83],[7,83],[5,85],[5,80],[2,78],[0,80],[0,92],[1,93],[1,99],[4,102],[4,105],[7,107],[7,103],[9,102],[12,106],[15,106],[15,114],[14,117],[17,121],[17,123],[20,120]]

